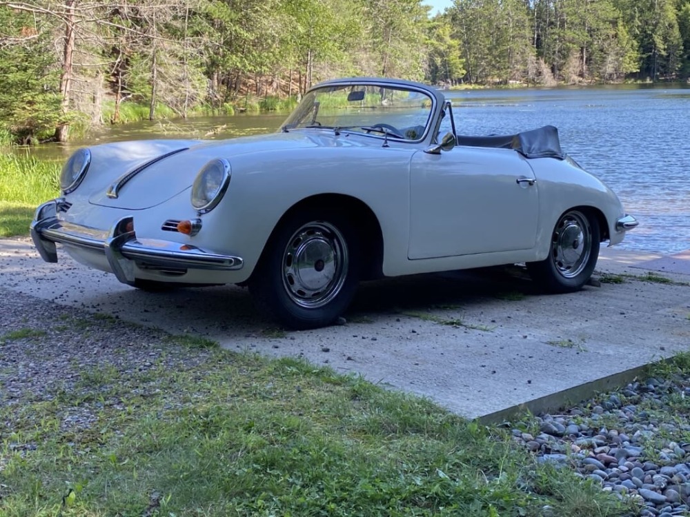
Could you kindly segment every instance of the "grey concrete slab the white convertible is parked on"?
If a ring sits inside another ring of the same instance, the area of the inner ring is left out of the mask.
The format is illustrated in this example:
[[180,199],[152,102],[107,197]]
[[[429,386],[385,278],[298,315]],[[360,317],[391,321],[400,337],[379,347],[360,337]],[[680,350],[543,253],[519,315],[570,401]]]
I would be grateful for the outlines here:
[[64,252],[59,259],[43,263],[28,239],[0,240],[0,296],[21,292],[231,350],[302,356],[482,420],[556,409],[690,348],[690,251],[604,249],[600,282],[557,296],[535,291],[515,268],[366,283],[344,325],[306,332],[275,328],[239,287],[147,293]]

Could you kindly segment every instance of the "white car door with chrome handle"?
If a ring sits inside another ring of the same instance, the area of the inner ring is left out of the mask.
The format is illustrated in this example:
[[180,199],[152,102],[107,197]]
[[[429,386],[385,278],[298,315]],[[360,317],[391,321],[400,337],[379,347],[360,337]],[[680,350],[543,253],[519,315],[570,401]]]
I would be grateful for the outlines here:
[[410,259],[534,246],[539,188],[517,152],[465,146],[420,151],[411,159],[410,181]]

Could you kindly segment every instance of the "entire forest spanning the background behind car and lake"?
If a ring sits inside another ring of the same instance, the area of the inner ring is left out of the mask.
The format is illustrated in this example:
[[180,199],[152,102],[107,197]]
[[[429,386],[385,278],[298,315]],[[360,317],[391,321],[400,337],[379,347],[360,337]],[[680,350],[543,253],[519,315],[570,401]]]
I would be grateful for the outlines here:
[[288,109],[313,83],[687,81],[690,0],[0,0],[0,143]]

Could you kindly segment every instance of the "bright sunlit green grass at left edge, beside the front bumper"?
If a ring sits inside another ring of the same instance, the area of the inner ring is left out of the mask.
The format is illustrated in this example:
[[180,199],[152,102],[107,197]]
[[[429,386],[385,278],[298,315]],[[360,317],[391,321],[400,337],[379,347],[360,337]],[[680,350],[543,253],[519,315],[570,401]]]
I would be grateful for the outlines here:
[[26,235],[37,205],[59,194],[61,164],[0,154],[0,237]]

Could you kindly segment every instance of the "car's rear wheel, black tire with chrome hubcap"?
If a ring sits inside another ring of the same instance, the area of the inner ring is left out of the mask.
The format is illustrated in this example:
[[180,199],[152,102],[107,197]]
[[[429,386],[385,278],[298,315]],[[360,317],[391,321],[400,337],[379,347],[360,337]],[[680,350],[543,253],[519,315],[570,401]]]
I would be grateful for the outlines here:
[[553,227],[549,256],[527,263],[527,270],[548,292],[578,291],[594,272],[600,241],[597,218],[582,210],[569,210]]

